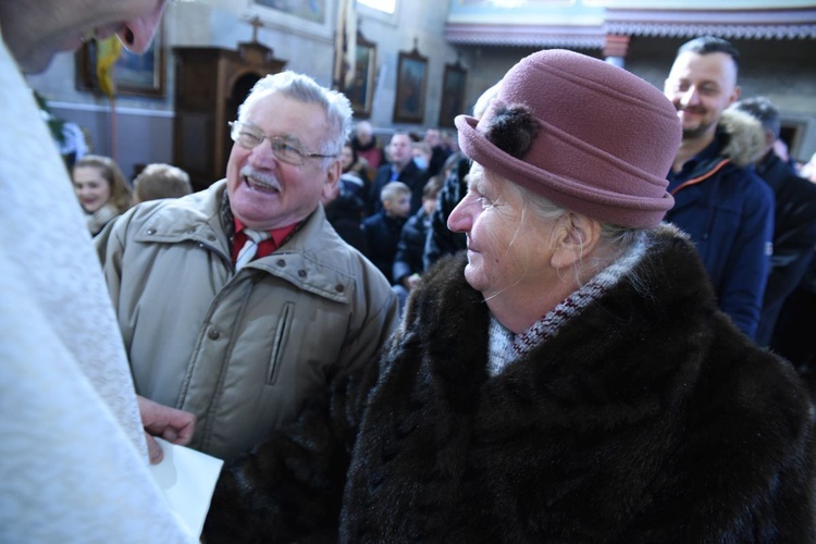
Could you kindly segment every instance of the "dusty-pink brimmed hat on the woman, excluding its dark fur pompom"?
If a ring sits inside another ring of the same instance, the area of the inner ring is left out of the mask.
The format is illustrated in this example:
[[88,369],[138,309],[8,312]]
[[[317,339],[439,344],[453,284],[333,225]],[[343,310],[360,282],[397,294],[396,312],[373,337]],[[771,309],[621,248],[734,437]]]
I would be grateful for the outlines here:
[[[537,123],[521,159],[485,135],[497,108],[519,103]],[[473,161],[568,210],[650,227],[673,205],[666,174],[680,145],[677,111],[623,69],[572,51],[540,51],[510,69],[481,120],[455,122]]]

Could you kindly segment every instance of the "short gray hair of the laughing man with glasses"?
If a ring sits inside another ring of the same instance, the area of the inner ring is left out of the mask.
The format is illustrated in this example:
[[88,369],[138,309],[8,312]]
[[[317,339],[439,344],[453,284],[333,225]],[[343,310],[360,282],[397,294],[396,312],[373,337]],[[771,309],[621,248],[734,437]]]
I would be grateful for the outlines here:
[[238,121],[246,122],[248,111],[261,98],[281,92],[287,98],[305,103],[317,103],[326,115],[329,133],[323,135],[320,153],[337,156],[351,132],[351,103],[345,95],[319,85],[305,74],[286,71],[258,81],[249,96],[238,108]]

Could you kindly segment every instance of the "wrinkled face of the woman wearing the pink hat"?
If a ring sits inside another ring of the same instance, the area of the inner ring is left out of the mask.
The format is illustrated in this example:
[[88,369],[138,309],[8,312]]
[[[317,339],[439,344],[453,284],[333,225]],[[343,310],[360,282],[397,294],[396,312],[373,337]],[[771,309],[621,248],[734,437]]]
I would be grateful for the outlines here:
[[468,238],[465,277],[485,298],[536,289],[551,271],[548,220],[535,217],[522,193],[474,163],[468,194],[448,218]]

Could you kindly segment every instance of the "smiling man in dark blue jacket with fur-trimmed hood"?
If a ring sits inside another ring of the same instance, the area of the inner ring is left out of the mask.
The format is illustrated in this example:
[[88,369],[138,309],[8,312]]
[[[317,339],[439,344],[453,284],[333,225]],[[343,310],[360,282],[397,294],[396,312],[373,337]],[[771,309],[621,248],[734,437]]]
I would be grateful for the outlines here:
[[683,126],[671,171],[675,206],[666,220],[700,252],[719,307],[754,337],[770,268],[774,194],[752,170],[762,127],[724,111],[740,97],[739,53],[728,41],[695,38],[678,50],[664,92]]

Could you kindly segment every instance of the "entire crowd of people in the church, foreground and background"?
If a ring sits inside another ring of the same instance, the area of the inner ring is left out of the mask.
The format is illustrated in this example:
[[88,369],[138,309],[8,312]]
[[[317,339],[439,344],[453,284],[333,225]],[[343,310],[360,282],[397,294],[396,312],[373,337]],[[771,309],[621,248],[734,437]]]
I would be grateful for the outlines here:
[[381,146],[269,75],[191,193],[66,174],[23,75],[77,35],[145,51],[164,2],[33,4],[0,0],[0,541],[198,542],[156,436],[225,460],[208,543],[816,539],[808,367],[775,344],[816,197],[731,44],[663,92],[530,54],[456,143]]

